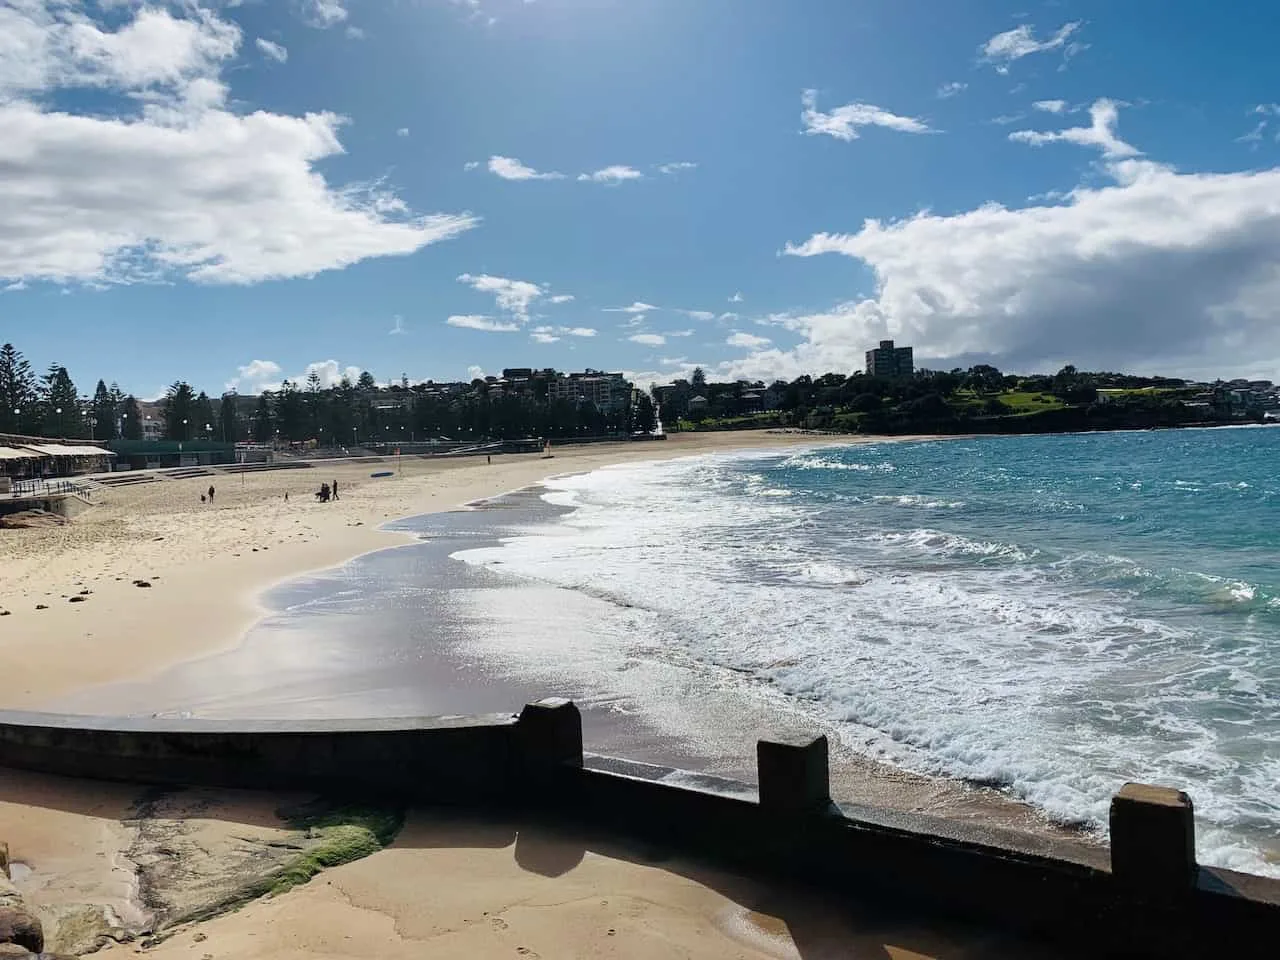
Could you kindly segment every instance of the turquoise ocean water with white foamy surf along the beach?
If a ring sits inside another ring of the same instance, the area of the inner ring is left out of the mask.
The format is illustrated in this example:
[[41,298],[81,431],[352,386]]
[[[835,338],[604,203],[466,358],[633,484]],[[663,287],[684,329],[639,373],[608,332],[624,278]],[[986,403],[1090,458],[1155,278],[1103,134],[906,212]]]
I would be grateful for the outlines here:
[[453,556],[1053,819],[1179,786],[1202,861],[1280,876],[1280,430],[696,457],[544,497],[568,509]]

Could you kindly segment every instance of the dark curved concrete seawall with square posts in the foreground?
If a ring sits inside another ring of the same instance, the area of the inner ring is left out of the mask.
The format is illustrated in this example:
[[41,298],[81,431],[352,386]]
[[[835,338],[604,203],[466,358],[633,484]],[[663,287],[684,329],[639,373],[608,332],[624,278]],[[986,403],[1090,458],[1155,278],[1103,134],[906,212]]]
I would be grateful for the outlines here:
[[840,809],[828,795],[824,739],[762,741],[759,790],[584,755],[579,712],[564,700],[530,704],[518,716],[365,722],[0,712],[0,765],[517,808],[861,899],[906,899],[1055,941],[1087,941],[1088,955],[1252,955],[1280,931],[1280,882],[1194,863],[1192,804],[1178,791],[1130,785],[1116,796],[1110,861],[1046,854],[923,817]]

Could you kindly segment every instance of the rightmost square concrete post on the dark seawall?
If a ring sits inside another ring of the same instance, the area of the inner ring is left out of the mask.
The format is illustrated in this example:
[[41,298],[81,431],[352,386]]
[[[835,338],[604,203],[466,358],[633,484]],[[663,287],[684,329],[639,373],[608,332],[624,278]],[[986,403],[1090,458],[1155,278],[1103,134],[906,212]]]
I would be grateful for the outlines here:
[[1196,818],[1180,790],[1125,783],[1111,800],[1111,874],[1134,892],[1169,896],[1196,884]]

